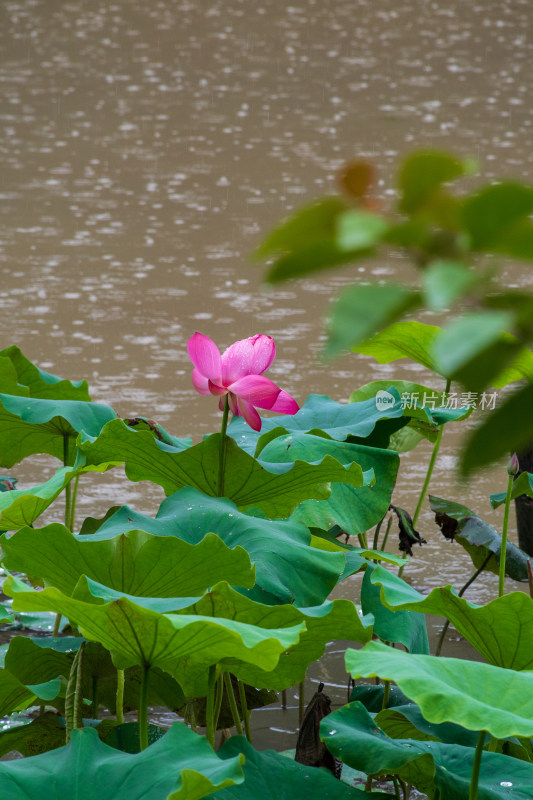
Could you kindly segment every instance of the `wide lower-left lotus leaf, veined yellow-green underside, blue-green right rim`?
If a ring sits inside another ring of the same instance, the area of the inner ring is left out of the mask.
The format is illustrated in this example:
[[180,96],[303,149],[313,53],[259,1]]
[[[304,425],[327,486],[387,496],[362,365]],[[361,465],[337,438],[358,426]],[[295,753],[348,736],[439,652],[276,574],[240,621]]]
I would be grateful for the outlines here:
[[[224,659],[229,659],[235,674],[245,662],[267,672],[275,669],[281,654],[296,644],[304,627],[267,629],[222,617],[163,614],[140,605],[147,604],[143,598],[134,603],[122,597],[100,605],[67,597],[54,588],[30,591],[12,577],[6,580],[4,591],[13,597],[16,610],[47,610],[67,616],[86,639],[100,642],[111,652],[118,668],[136,664],[160,667],[176,677],[192,697],[205,694],[207,668]],[[178,607],[179,602],[178,598]]]

